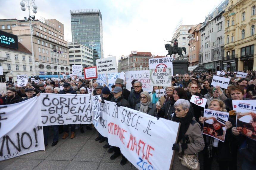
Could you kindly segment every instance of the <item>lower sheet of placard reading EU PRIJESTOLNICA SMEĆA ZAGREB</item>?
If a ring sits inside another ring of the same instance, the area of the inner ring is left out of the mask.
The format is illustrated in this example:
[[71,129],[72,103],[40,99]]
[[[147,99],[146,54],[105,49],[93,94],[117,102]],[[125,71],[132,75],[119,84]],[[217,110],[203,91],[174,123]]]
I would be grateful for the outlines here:
[[150,69],[150,85],[168,86],[171,85],[171,68]]

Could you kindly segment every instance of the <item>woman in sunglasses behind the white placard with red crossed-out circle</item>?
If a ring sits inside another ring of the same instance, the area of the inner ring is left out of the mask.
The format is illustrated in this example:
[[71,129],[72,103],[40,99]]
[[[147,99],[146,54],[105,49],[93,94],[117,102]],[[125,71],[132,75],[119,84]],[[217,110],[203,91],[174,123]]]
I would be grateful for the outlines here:
[[[190,84],[188,85],[188,87],[189,87],[189,88],[188,88],[189,91],[187,92],[188,101],[190,101],[190,99],[191,99],[191,97],[192,97],[193,95],[194,95],[194,96],[198,96],[198,97],[200,97],[200,98],[203,97],[202,94],[197,93],[197,89],[198,89],[197,83],[192,82],[192,83],[190,83]],[[196,104],[194,104],[194,103],[192,103],[192,102],[190,102],[190,104],[191,104],[191,106],[193,107],[194,116],[195,116],[195,118],[196,118],[196,121],[199,121],[199,117],[200,117],[200,115],[202,114],[202,112],[204,111],[204,108],[201,107],[201,106],[198,106],[198,105],[196,105]]]

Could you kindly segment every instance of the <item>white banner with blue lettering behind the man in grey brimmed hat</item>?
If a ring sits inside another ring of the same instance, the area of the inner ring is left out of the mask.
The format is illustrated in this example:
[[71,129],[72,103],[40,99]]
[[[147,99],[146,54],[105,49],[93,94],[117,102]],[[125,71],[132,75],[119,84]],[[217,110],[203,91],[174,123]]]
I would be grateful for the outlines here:
[[[124,80],[124,72],[121,73],[111,73],[111,74],[107,74],[107,78],[108,78],[108,88],[111,91],[111,86],[115,85],[115,81],[117,78],[123,79]],[[106,78],[106,74],[98,74],[98,78],[96,80],[97,83],[99,83],[99,85],[105,84],[107,85],[107,78]]]

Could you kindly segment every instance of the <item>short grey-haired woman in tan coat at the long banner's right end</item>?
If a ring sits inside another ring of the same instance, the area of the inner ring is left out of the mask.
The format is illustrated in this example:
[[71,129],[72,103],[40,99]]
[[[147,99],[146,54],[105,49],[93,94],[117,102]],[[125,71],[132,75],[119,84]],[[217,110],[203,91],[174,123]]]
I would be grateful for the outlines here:
[[175,112],[172,121],[180,123],[180,130],[178,142],[172,147],[172,150],[176,151],[174,152],[173,170],[189,169],[181,164],[179,154],[197,154],[205,147],[200,124],[189,111],[190,107],[190,102],[185,99],[178,99],[174,104]]

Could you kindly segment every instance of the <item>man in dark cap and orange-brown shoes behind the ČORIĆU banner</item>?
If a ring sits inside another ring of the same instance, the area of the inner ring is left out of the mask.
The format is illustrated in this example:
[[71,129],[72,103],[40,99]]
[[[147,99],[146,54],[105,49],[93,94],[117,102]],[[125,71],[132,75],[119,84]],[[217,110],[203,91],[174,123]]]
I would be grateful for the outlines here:
[[[73,90],[73,88],[71,88],[71,85],[69,83],[66,82],[63,85],[63,90],[60,90],[59,94],[77,94],[77,92]],[[69,131],[68,131],[69,125],[63,125],[63,126],[64,126],[64,135],[62,136],[62,139],[66,139],[69,136]],[[70,128],[71,128],[70,138],[73,139],[76,136],[75,134],[76,125],[71,124]]]

